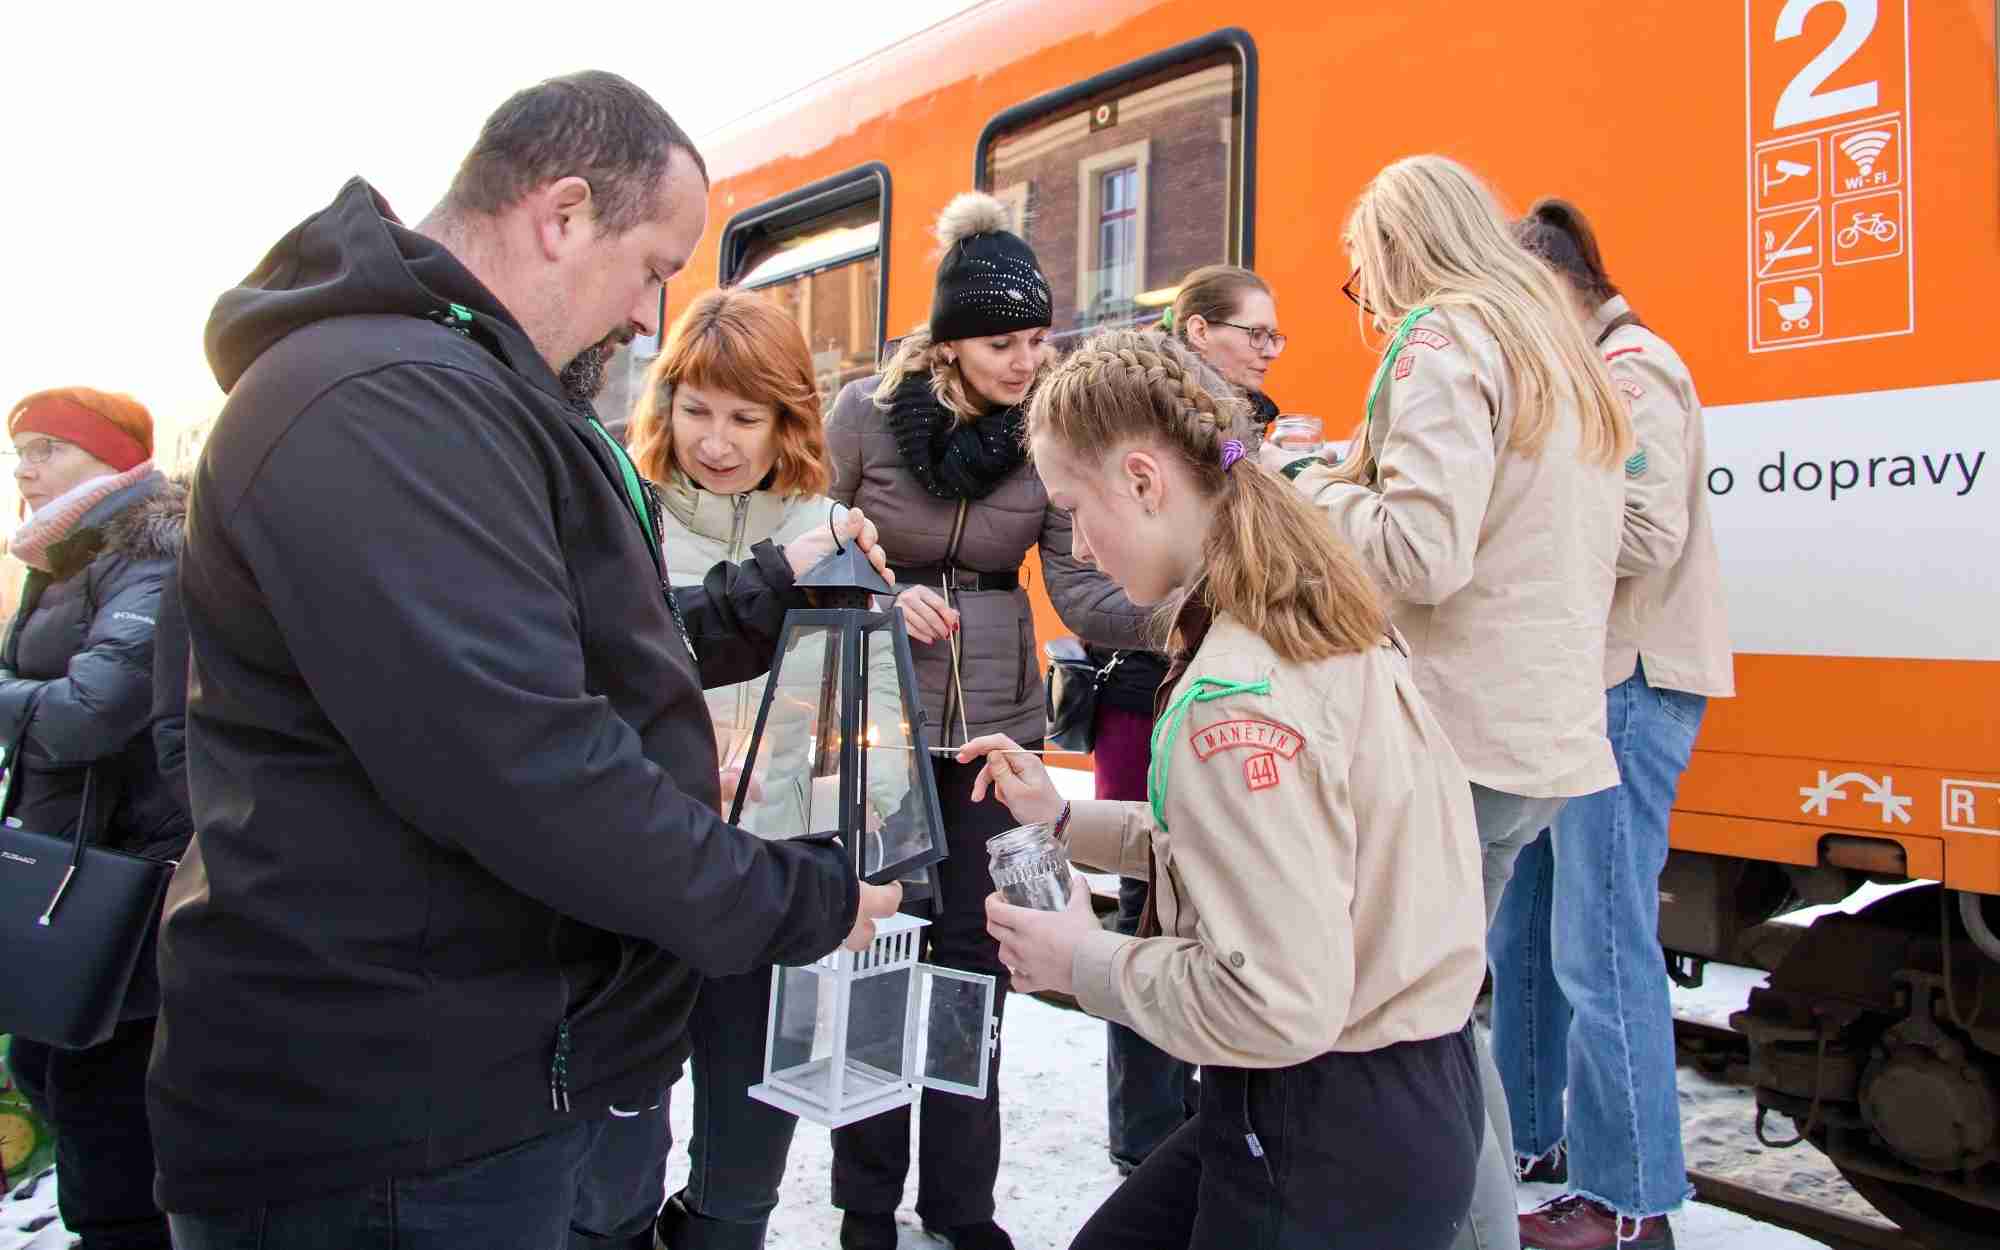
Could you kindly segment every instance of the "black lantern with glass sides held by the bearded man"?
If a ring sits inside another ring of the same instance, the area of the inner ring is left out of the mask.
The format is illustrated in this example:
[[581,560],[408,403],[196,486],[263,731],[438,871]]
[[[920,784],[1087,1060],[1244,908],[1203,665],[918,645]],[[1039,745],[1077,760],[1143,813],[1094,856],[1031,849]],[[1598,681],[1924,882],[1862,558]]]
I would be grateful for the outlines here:
[[852,542],[798,586],[816,606],[784,618],[730,824],[838,834],[876,886],[920,874],[944,858],[944,816],[902,612],[874,610],[892,592]]

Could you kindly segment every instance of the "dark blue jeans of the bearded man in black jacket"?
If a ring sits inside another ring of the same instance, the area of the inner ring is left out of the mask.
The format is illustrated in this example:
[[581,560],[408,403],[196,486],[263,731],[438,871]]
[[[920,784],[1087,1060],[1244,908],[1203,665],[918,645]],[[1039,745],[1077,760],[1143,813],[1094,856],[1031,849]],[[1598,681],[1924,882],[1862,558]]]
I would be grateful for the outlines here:
[[576,1234],[578,1198],[614,1124],[572,1124],[450,1168],[320,1198],[174,1212],[168,1222],[176,1250],[552,1250]]

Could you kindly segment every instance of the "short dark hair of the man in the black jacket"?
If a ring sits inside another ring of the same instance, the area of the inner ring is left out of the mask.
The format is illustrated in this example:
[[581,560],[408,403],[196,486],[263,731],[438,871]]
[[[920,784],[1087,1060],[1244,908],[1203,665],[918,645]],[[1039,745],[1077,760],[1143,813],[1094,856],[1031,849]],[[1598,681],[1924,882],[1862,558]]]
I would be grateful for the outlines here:
[[674,150],[708,182],[694,140],[660,102],[604,70],[584,70],[514,92],[480,128],[444,200],[496,216],[538,186],[582,178],[598,226],[624,234],[646,220]]

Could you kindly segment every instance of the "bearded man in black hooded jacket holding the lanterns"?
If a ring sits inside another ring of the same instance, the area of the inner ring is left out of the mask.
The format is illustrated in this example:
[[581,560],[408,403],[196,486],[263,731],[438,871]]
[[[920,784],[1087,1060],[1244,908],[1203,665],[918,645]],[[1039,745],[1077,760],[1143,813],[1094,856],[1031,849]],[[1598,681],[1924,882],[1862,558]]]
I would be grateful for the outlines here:
[[832,532],[670,612],[638,478],[558,382],[656,328],[704,198],[656,102],[576,74],[416,230],[356,178],[216,304],[148,1086],[184,1250],[562,1246],[700,976],[896,906],[714,812],[702,686],[768,668]]

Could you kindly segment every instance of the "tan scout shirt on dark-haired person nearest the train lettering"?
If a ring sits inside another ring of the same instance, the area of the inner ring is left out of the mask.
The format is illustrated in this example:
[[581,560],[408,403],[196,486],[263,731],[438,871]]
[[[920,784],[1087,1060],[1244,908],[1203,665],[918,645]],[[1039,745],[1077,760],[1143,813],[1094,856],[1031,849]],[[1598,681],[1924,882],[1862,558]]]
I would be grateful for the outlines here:
[[[1624,296],[1608,300],[1596,312],[1592,338],[1628,312]],[[1644,658],[1648,686],[1726,698],[1736,694],[1736,670],[1708,522],[1702,400],[1688,366],[1646,326],[1618,326],[1600,346],[1638,434],[1626,462],[1604,688],[1628,680]]]

